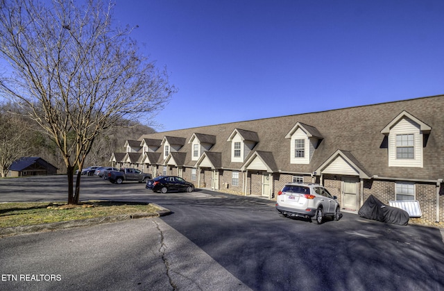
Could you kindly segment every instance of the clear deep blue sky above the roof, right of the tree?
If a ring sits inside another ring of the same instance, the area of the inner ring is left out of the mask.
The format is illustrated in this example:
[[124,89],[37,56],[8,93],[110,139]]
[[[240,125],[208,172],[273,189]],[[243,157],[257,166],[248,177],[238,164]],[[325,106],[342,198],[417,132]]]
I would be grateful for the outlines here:
[[117,0],[169,131],[444,94],[444,1]]

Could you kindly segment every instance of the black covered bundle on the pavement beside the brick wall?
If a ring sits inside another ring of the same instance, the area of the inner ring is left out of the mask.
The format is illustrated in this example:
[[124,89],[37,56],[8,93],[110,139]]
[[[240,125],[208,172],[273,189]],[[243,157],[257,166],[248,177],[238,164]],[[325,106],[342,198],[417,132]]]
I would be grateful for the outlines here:
[[409,213],[407,211],[392,206],[385,205],[373,195],[370,195],[364,205],[359,208],[359,217],[386,222],[388,224],[407,225],[409,224]]

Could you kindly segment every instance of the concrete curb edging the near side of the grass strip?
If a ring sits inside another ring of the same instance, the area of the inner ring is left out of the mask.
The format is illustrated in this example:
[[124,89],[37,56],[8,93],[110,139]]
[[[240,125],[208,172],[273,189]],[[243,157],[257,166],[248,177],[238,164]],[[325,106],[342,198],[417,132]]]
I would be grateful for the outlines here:
[[56,231],[58,229],[65,228],[73,228],[80,226],[92,226],[96,224],[105,224],[110,222],[121,222],[123,220],[128,219],[139,219],[145,217],[161,217],[165,215],[169,215],[171,211],[167,208],[159,206],[155,203],[151,203],[159,210],[155,213],[132,213],[132,214],[123,214],[123,215],[114,215],[108,217],[99,217],[99,218],[89,218],[89,219],[79,219],[79,220],[71,220],[69,222],[53,222],[51,224],[36,224],[30,226],[13,226],[13,227],[4,227],[0,228],[0,238],[13,236],[13,235],[22,235],[25,233],[37,233],[43,231]]

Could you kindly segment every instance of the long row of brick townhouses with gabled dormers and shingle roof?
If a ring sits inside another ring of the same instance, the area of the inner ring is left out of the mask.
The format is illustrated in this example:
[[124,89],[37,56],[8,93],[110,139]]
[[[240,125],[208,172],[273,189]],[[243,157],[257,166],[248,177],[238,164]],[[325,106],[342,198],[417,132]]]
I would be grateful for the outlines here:
[[110,161],[267,199],[288,182],[321,183],[351,213],[370,194],[386,204],[417,200],[423,219],[440,222],[443,112],[440,95],[151,133]]

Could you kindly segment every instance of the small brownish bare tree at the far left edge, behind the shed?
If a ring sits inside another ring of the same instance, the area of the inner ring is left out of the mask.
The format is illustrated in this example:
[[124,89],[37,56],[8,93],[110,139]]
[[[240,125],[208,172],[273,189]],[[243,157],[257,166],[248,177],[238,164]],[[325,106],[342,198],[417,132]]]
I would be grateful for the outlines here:
[[17,115],[0,108],[0,177],[5,177],[12,162],[29,150],[28,130]]

